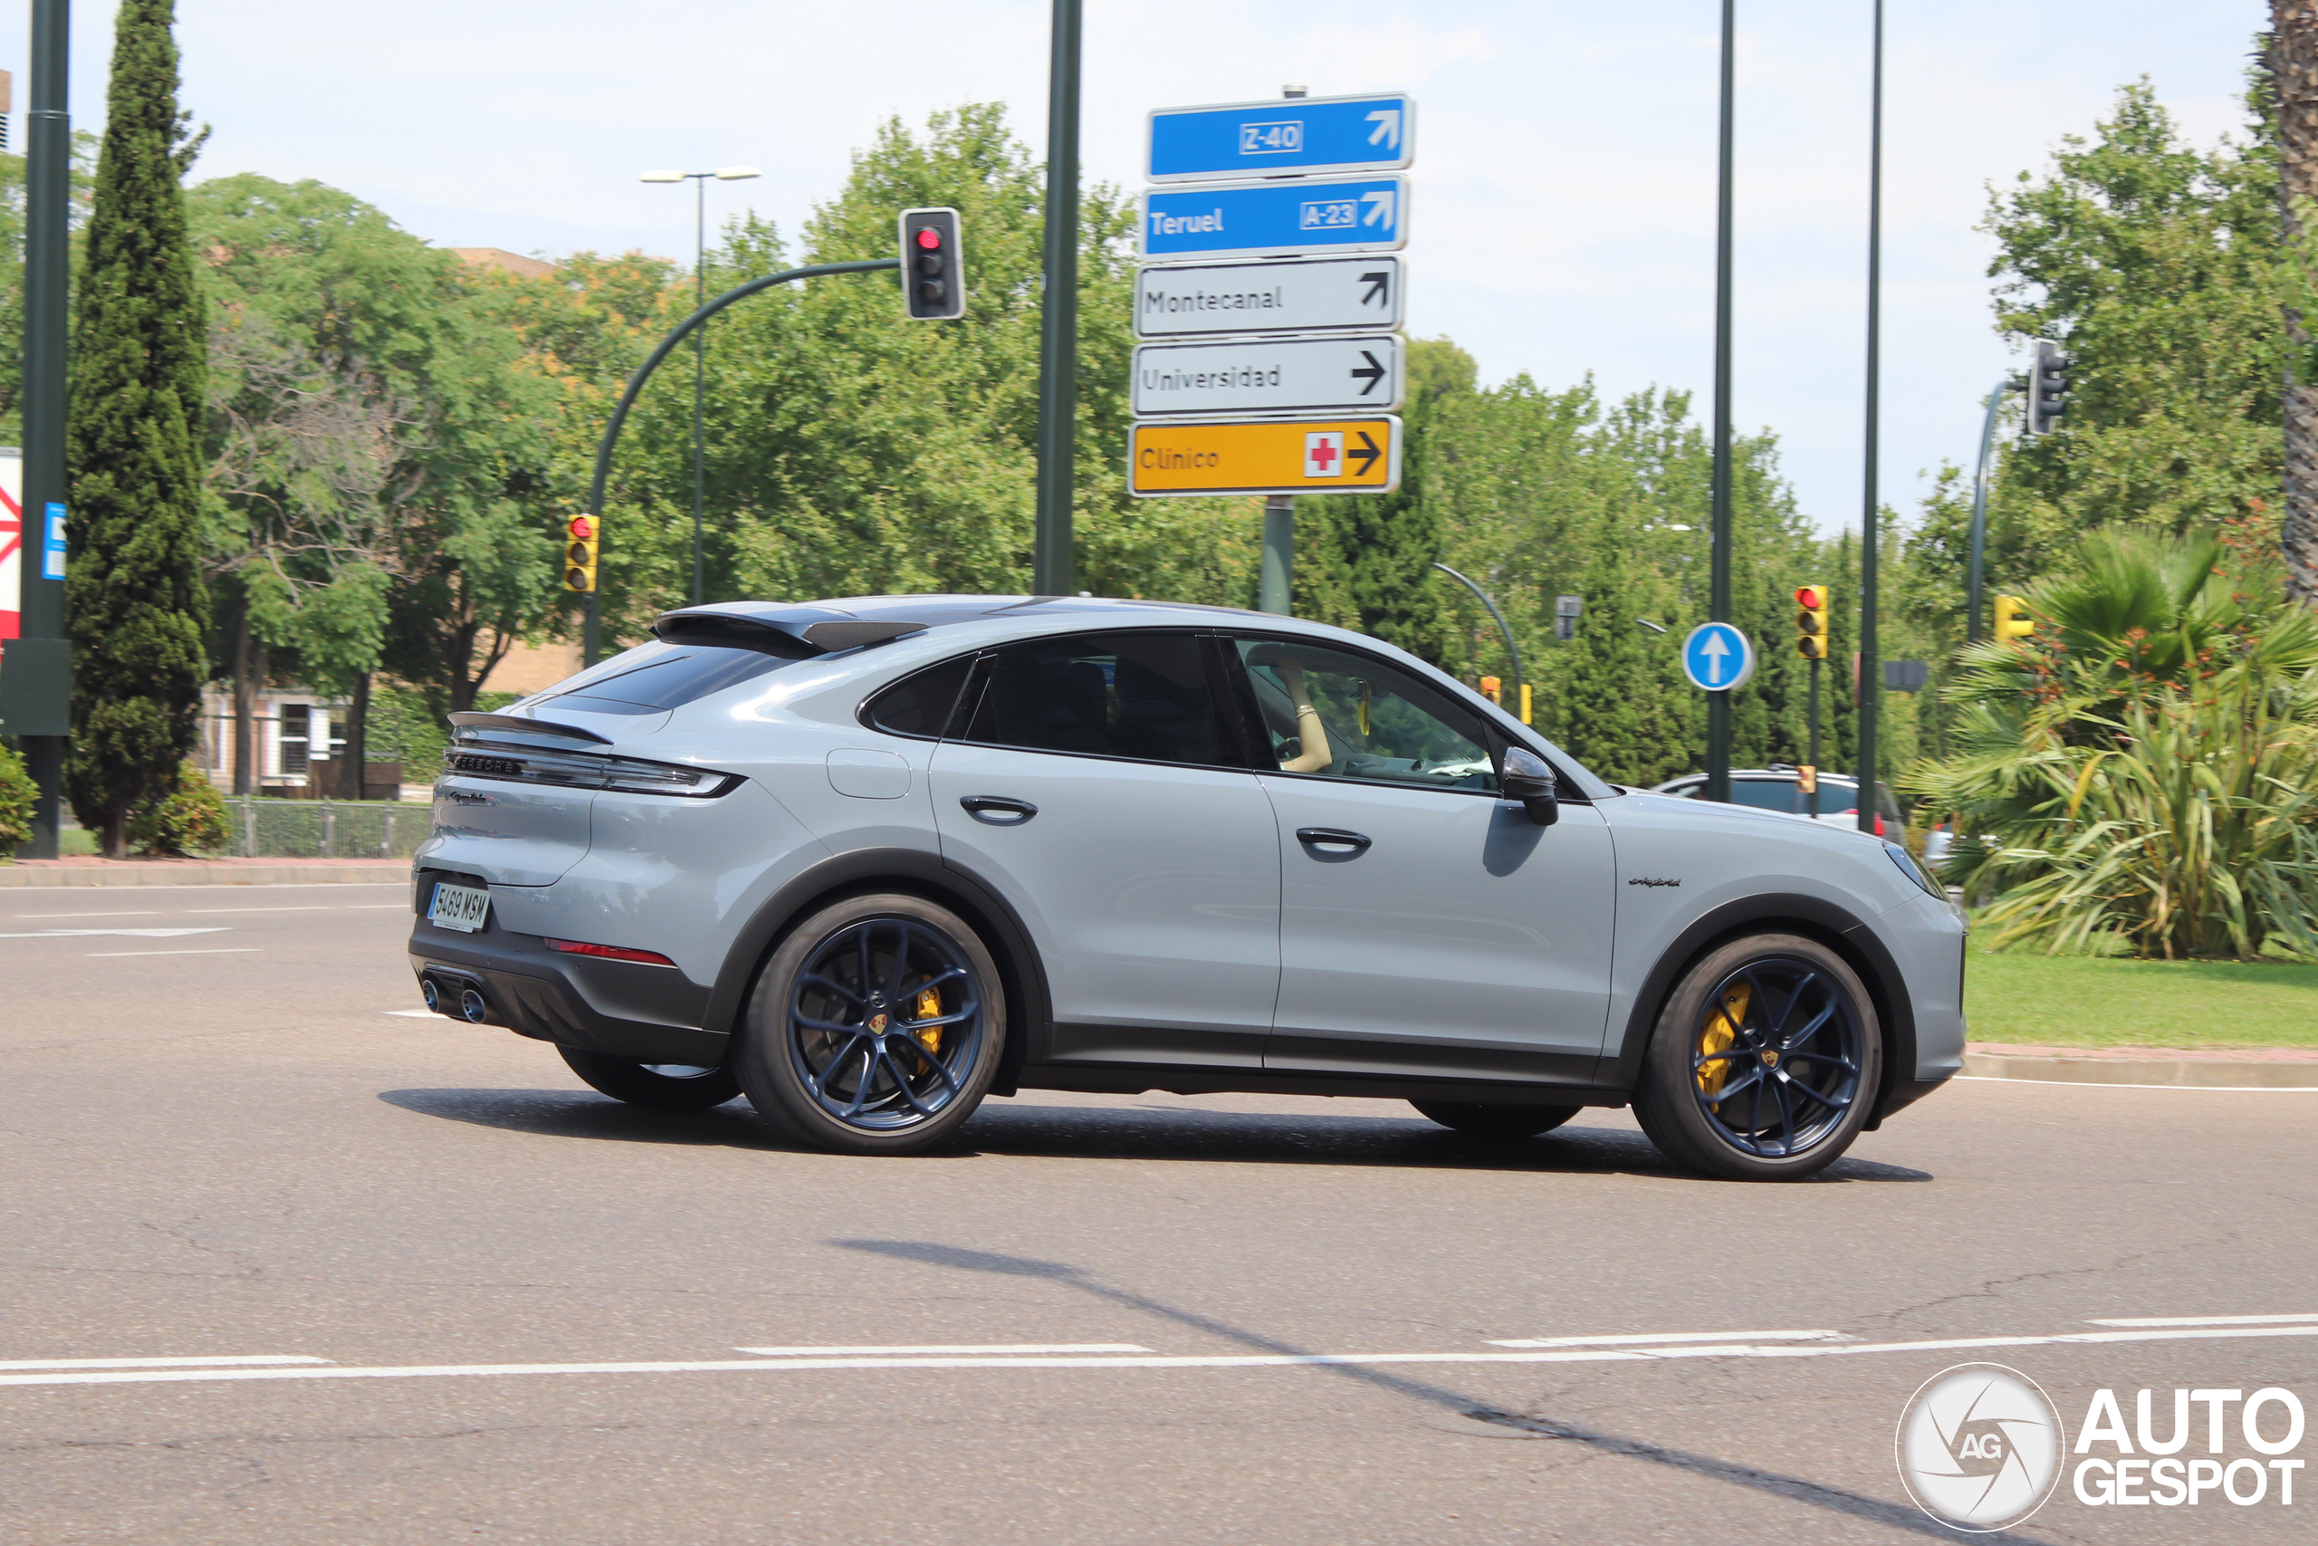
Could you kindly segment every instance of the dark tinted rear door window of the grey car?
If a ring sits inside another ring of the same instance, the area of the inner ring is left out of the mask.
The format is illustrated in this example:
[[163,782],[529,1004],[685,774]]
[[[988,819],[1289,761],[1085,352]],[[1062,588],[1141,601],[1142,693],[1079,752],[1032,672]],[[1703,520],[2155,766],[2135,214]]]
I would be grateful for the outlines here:
[[964,739],[1145,763],[1235,763],[1189,633],[1008,644],[990,656]]

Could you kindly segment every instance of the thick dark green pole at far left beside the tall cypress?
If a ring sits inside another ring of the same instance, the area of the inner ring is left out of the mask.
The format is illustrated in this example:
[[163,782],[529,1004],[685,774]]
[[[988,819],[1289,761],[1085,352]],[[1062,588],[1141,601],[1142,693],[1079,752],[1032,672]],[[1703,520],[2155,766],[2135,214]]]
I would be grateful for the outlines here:
[[[28,860],[53,860],[65,788],[72,654],[65,642],[65,579],[44,563],[49,508],[65,508],[65,299],[72,202],[72,114],[65,70],[72,49],[67,0],[32,0],[32,90],[25,125],[23,241],[23,575],[21,633],[7,649],[9,730],[39,786]],[[32,691],[25,691],[32,688]],[[23,709],[32,712],[25,714]]]

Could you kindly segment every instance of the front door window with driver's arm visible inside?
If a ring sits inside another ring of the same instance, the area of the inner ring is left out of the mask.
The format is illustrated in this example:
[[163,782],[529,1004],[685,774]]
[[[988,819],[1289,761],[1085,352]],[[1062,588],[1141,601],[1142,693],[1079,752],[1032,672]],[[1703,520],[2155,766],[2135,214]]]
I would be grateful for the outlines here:
[[1233,640],[1280,772],[1495,790],[1481,721],[1382,661],[1324,644]]

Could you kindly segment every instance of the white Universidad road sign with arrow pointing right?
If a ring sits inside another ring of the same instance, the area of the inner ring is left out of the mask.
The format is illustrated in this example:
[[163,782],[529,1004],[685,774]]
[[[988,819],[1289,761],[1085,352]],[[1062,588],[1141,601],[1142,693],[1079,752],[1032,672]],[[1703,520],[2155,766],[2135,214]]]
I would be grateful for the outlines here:
[[1138,343],[1134,413],[1391,413],[1402,375],[1400,334]]

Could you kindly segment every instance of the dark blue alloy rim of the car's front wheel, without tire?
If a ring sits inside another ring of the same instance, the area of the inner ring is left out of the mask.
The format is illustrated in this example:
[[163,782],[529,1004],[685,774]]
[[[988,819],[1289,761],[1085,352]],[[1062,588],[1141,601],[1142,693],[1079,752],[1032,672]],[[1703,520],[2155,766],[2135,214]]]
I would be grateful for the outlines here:
[[1792,1159],[1843,1126],[1859,1099],[1859,1008],[1827,971],[1792,955],[1722,978],[1690,1038],[1706,1124],[1741,1154]]

